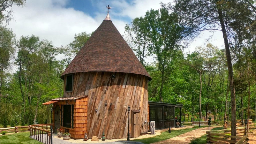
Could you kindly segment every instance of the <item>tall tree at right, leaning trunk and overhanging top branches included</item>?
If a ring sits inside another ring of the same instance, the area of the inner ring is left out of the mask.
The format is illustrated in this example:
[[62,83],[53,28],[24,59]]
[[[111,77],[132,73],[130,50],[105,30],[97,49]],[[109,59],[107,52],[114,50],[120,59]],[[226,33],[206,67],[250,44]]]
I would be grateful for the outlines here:
[[232,20],[228,14],[231,10],[236,10],[237,6],[244,5],[244,3],[237,2],[235,0],[175,0],[174,2],[175,6],[172,6],[172,4],[169,3],[170,8],[180,16],[181,24],[187,28],[187,36],[192,38],[196,37],[201,31],[204,30],[220,30],[223,33],[229,74],[229,87],[231,91],[231,135],[235,136],[235,89],[231,55],[229,50],[229,31],[232,31],[232,29],[230,29],[228,25]]

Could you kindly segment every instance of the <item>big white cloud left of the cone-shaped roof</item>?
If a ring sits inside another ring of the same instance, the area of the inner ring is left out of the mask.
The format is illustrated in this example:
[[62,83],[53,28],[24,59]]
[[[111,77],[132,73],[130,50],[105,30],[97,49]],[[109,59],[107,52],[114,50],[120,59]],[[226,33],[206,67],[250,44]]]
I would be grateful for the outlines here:
[[17,38],[36,35],[61,46],[70,43],[75,33],[91,33],[101,23],[81,11],[63,8],[65,1],[55,4],[58,1],[27,0],[23,8],[13,8],[15,21],[11,21],[8,27],[13,29]]

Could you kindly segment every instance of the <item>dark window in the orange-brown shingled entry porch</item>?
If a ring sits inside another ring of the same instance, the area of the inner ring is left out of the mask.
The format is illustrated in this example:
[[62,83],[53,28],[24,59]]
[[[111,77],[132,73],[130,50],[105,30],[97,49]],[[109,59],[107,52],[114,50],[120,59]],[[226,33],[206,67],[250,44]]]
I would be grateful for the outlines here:
[[63,127],[73,127],[74,105],[63,105]]

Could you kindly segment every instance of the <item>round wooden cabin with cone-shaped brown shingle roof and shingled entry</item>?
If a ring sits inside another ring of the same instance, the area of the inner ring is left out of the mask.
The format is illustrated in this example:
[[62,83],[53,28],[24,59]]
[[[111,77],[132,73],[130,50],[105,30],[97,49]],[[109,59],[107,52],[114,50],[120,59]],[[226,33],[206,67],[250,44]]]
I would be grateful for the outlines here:
[[113,25],[105,20],[71,61],[61,78],[63,98],[53,99],[55,129],[73,138],[126,138],[148,132],[151,77]]

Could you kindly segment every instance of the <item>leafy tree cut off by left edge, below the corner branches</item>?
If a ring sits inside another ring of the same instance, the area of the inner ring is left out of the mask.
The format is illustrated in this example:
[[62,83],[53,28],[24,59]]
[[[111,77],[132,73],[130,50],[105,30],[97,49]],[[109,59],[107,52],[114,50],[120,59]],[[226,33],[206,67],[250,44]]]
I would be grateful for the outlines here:
[[0,104],[2,86],[6,79],[6,70],[10,69],[15,52],[15,35],[12,30],[0,26]]

